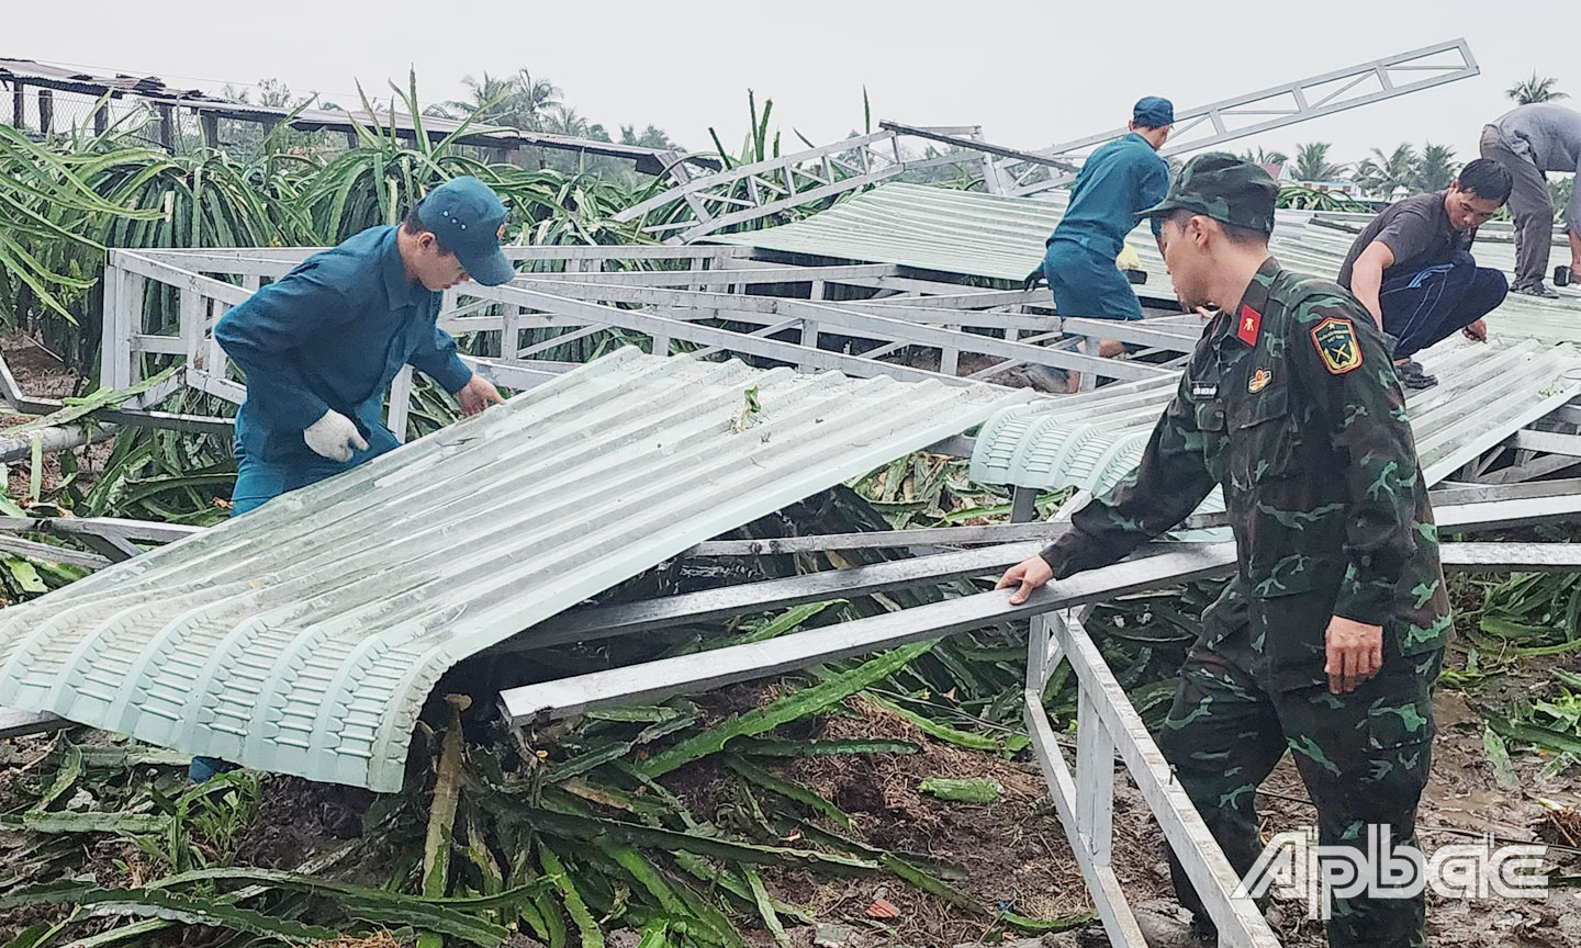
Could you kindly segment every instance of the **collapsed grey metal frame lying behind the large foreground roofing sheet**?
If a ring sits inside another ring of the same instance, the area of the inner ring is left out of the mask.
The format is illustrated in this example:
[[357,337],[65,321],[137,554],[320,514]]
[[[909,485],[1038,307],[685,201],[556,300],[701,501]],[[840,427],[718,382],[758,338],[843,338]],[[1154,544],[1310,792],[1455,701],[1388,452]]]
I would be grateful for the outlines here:
[[[153,404],[182,386],[240,403],[215,322],[255,292],[264,278],[285,275],[313,248],[226,251],[112,250],[104,272],[104,344],[101,384],[111,389],[142,379],[144,356],[182,357],[177,374],[160,386]],[[977,291],[890,264],[787,267],[751,258],[732,246],[519,246],[509,256],[531,267],[515,281],[447,291],[440,325],[455,333],[498,333],[498,359],[463,357],[498,386],[528,389],[569,368],[539,354],[606,330],[640,333],[650,351],[669,354],[681,343],[694,356],[730,352],[795,365],[803,371],[840,370],[858,378],[941,379],[971,384],[1012,367],[1036,365],[1096,378],[1167,379],[1168,367],[1113,360],[1073,351],[1085,335],[1121,337],[1167,354],[1187,352],[1192,330],[1178,324],[1110,327],[1047,313],[1048,291]],[[606,272],[606,265],[680,264],[681,270]],[[234,281],[232,281],[234,280]],[[830,302],[830,286],[847,284],[879,295]],[[152,288],[177,294],[175,333],[147,332],[145,299]],[[759,295],[757,288],[805,288],[806,299]],[[934,294],[934,295],[930,295]],[[939,295],[942,294],[942,295]],[[640,308],[626,308],[640,307]],[[974,308],[975,307],[975,308]],[[1045,311],[1039,313],[1037,308]],[[741,332],[708,321],[749,324]],[[522,346],[523,330],[566,330]],[[1023,335],[1023,333],[1031,333]],[[779,337],[792,338],[779,338]],[[841,349],[825,348],[830,337]],[[508,344],[514,340],[515,344]],[[857,340],[862,352],[844,351]],[[1061,341],[1062,340],[1062,341]],[[1053,344],[1039,344],[1053,343]],[[991,360],[960,378],[961,356]],[[920,367],[919,360],[930,367]],[[397,376],[389,420],[405,431],[411,371]]]

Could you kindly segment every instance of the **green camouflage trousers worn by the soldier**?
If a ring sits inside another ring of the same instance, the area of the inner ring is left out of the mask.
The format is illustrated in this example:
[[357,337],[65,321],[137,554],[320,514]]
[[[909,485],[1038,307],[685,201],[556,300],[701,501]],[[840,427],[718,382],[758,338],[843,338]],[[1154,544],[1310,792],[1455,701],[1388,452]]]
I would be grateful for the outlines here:
[[[1320,845],[1353,845],[1364,855],[1369,825],[1387,826],[1391,845],[1417,845],[1417,801],[1434,735],[1432,684],[1442,664],[1442,651],[1393,656],[1349,695],[1331,695],[1326,686],[1276,690],[1247,672],[1263,664],[1241,626],[1213,648],[1192,649],[1159,747],[1241,878],[1263,848],[1254,792],[1285,750],[1317,804]],[[1208,923],[1173,853],[1170,869],[1181,904]],[[1420,948],[1424,923],[1420,894],[1336,897],[1328,943]]]

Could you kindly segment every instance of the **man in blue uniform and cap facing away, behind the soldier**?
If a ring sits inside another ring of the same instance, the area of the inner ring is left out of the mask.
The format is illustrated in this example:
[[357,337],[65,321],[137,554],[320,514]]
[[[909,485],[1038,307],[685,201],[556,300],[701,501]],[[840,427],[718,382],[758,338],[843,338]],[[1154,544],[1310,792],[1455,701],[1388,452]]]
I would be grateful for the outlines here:
[[[1130,281],[1115,265],[1126,234],[1137,226],[1137,213],[1164,201],[1170,190],[1170,166],[1159,149],[1175,125],[1168,100],[1146,96],[1132,111],[1130,133],[1092,155],[1077,174],[1070,204],[1059,226],[1048,237],[1043,265],[1026,276],[1026,289],[1048,281],[1055,310],[1083,319],[1141,319],[1141,303]],[[1153,221],[1159,235],[1159,221]],[[1118,356],[1121,344],[1104,340],[1102,356]],[[1070,374],[1070,390],[1078,386]]]

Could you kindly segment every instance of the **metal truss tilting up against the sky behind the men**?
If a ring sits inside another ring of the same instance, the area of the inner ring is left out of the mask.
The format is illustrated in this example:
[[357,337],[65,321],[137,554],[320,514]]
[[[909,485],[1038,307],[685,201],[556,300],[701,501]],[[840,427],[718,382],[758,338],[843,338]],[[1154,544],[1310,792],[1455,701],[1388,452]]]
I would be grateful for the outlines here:
[[[1423,73],[1426,74],[1415,77]],[[1159,153],[1168,156],[1211,149],[1249,134],[1284,128],[1285,125],[1295,125],[1307,118],[1319,118],[1345,109],[1380,103],[1447,82],[1470,79],[1478,74],[1481,74],[1481,68],[1477,65],[1475,57],[1472,57],[1472,47],[1464,38],[1436,43],[1421,49],[1334,70],[1333,73],[1178,111],[1175,114],[1175,131]],[[1251,118],[1251,122],[1243,123],[1246,118]],[[1192,137],[1192,133],[1197,133],[1197,136]],[[1116,128],[1059,142],[1048,149],[1039,149],[1034,153],[1042,158],[1069,158],[1123,134],[1126,134],[1126,130]],[[1028,182],[1040,167],[1040,164],[1017,161],[999,163],[999,177],[1013,182],[1002,193],[1015,196],[1036,194],[1069,183],[1073,177],[1061,174],[1040,182]]]

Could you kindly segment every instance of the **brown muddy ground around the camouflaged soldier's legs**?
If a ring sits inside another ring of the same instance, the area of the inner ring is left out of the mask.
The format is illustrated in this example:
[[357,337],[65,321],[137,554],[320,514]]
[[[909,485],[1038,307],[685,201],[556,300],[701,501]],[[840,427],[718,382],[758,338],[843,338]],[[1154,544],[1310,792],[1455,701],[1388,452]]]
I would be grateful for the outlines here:
[[[1581,660],[1572,660],[1581,665]],[[1540,670],[1546,673],[1545,670]],[[1540,779],[1546,760],[1515,755],[1519,790],[1497,785],[1481,750],[1481,717],[1461,692],[1442,690],[1437,700],[1439,738],[1432,779],[1418,814],[1421,847],[1431,856],[1440,845],[1477,842],[1492,833],[1505,841],[1564,844],[1551,850],[1551,872],[1581,877],[1581,768]],[[1051,918],[1091,910],[1064,830],[1053,814],[1036,765],[1004,762],[926,741],[907,722],[882,711],[862,717],[825,719],[827,736],[887,736],[912,739],[925,752],[909,757],[825,758],[802,762],[797,779],[819,788],[851,814],[863,839],[928,855],[968,871],[958,883],[983,904],[1013,905],[1023,915]],[[991,806],[945,803],[919,795],[923,776],[993,776],[1006,793]],[[1314,811],[1295,766],[1285,758],[1263,785],[1258,799],[1263,836],[1312,823]],[[1277,796],[1276,796],[1277,795]],[[1295,799],[1289,799],[1295,798]],[[1556,820],[1546,799],[1572,811]],[[1172,897],[1165,850],[1157,825],[1135,785],[1116,771],[1115,867],[1134,902]],[[827,882],[786,872],[770,885],[778,894],[817,910],[860,932],[852,945],[960,945],[977,942],[990,926],[909,886],[879,891],[870,880]],[[866,908],[884,897],[901,916],[877,927]],[[1429,894],[1429,943],[1496,948],[1559,948],[1581,945],[1581,888],[1554,886],[1543,901],[1443,899]],[[1279,934],[1289,946],[1322,946],[1326,939],[1303,908],[1285,905]],[[998,932],[998,929],[993,929]],[[1080,935],[1047,937],[1045,943],[1099,943],[1097,926]],[[1013,937],[1013,935],[1012,935]]]

